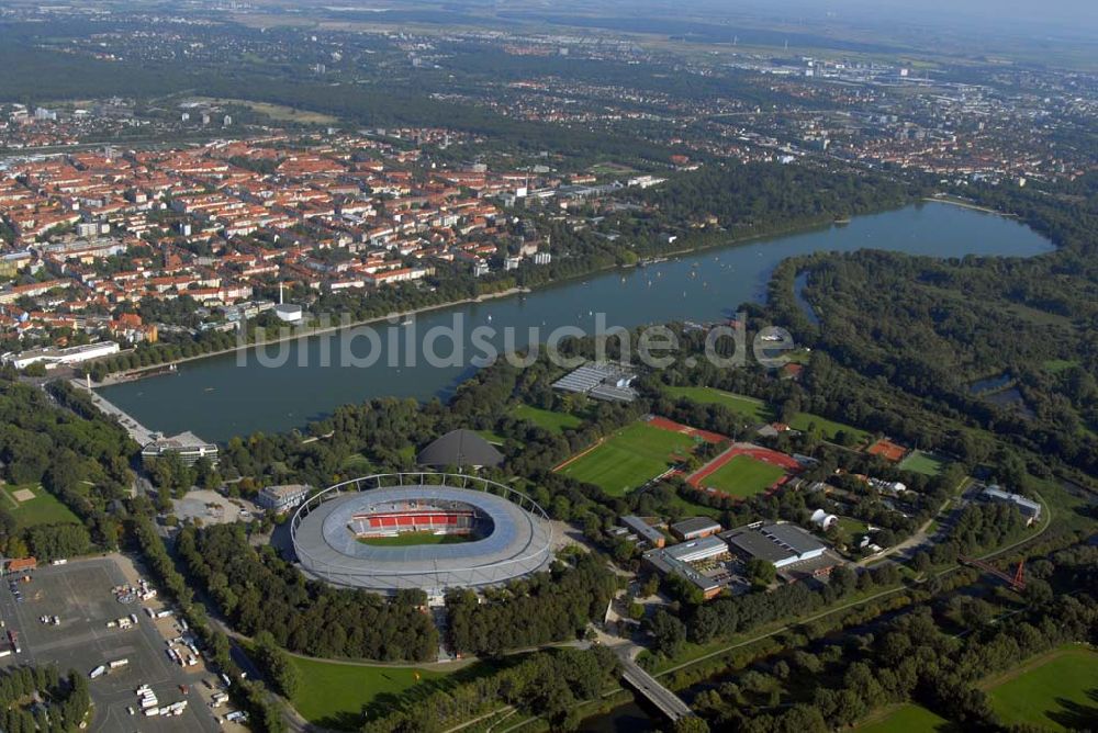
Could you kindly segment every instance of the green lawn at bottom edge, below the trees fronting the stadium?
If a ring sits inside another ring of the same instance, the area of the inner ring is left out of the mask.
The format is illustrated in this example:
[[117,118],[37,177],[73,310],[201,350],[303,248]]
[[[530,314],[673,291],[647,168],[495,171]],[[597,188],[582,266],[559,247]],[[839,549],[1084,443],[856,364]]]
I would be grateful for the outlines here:
[[[483,664],[437,672],[412,667],[290,657],[301,684],[293,707],[311,723],[338,730],[361,728],[362,709],[371,703],[393,708],[393,697],[428,695],[448,680],[468,679],[491,667]],[[416,679],[416,675],[419,676]],[[422,688],[422,689],[413,689]],[[411,700],[408,700],[411,702]]]

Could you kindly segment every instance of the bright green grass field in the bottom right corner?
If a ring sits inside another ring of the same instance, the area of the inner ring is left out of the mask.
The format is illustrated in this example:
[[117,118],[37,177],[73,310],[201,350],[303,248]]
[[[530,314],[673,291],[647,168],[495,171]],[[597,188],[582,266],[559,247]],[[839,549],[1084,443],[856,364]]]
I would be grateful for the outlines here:
[[988,680],[991,708],[1007,725],[1079,730],[1098,720],[1098,653],[1075,645],[1023,663]]

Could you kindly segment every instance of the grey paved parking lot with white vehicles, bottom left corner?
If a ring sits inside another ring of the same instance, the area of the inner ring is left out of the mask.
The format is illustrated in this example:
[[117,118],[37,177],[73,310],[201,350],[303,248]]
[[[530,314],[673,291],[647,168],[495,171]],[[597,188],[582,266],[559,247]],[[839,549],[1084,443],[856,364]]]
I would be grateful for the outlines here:
[[[171,620],[154,621],[143,610],[143,606],[163,605],[139,599],[122,604],[113,593],[113,588],[135,580],[132,568],[125,566],[121,557],[97,557],[40,567],[31,573],[31,582],[18,584],[22,601],[16,601],[8,583],[0,586],[0,618],[7,630],[19,634],[21,646],[20,654],[0,658],[0,667],[55,663],[63,675],[71,668],[88,676],[100,665],[126,659],[124,665],[89,680],[96,703],[89,731],[223,730],[206,707],[209,695],[203,692],[209,688],[200,684],[211,677],[205,665],[184,669],[171,662],[166,654],[165,633],[172,630],[157,628],[170,625]],[[124,573],[124,567],[128,572]],[[12,576],[5,578],[10,579]],[[136,617],[136,623],[131,621],[131,628],[120,628],[119,619],[131,614]],[[48,617],[48,622],[42,622],[41,617]],[[53,617],[57,617],[56,624]],[[109,627],[111,622],[115,625]],[[5,642],[3,649],[10,649]],[[178,717],[145,717],[136,695],[142,685],[152,688],[160,706],[184,699],[188,706]],[[187,687],[186,693],[181,686]],[[136,714],[131,715],[127,708]]]

